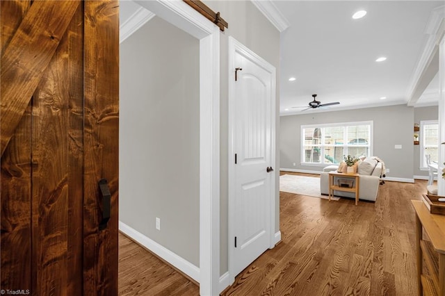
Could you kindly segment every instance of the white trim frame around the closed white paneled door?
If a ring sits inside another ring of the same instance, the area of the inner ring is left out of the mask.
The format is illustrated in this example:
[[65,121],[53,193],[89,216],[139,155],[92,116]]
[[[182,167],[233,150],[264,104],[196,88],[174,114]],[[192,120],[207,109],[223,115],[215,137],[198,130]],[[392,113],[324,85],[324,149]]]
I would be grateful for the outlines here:
[[[270,140],[273,143],[271,149],[270,149],[270,165],[274,168],[275,173],[277,167],[275,165],[275,100],[276,100],[276,69],[273,67],[273,65],[270,65],[264,58],[261,58],[257,54],[255,54],[253,51],[248,49],[248,47],[245,47],[241,42],[238,42],[235,38],[232,36],[229,36],[229,165],[228,165],[228,172],[229,172],[229,217],[228,217],[228,241],[229,241],[229,277],[231,277],[231,281],[233,283],[236,274],[234,274],[233,269],[233,258],[234,258],[234,233],[235,233],[235,225],[234,225],[234,219],[233,215],[235,213],[235,151],[234,151],[234,135],[235,135],[235,80],[234,80],[234,72],[235,68],[238,67],[235,65],[235,54],[236,52],[242,54],[243,56],[248,57],[250,60],[252,60],[254,63],[257,63],[257,65],[260,65],[264,69],[266,69],[268,72],[272,73],[273,81],[271,83],[271,104],[270,104],[270,113],[272,114],[271,120],[270,120]],[[270,246],[269,248],[272,249],[275,247],[275,175],[271,175],[271,181],[270,181]]]

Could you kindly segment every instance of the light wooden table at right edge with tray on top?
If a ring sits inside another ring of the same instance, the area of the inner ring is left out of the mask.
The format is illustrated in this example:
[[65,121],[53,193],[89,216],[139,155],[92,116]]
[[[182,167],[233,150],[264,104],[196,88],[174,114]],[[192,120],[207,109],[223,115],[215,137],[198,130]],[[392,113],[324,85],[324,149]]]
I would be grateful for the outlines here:
[[431,214],[420,200],[411,202],[416,211],[418,294],[445,296],[445,215]]

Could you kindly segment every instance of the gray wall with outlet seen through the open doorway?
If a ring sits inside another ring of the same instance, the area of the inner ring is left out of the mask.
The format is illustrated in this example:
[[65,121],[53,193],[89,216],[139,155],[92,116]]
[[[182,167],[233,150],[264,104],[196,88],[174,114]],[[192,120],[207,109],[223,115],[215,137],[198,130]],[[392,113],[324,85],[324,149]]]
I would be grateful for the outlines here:
[[120,220],[196,266],[199,51],[159,17],[120,46]]

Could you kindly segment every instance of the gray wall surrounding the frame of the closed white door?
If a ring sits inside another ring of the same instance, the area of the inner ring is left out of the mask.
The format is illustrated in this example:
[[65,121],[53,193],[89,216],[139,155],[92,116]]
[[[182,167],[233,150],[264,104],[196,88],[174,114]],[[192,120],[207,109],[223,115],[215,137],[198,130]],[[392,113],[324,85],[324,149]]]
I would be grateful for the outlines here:
[[[206,2],[213,11],[219,11],[221,17],[229,23],[229,28],[221,33],[220,39],[220,272],[223,274],[228,270],[228,195],[227,195],[227,165],[228,156],[227,149],[229,140],[227,138],[228,133],[228,84],[227,76],[228,69],[228,37],[233,36],[236,40],[244,44],[246,47],[254,51],[272,64],[277,69],[277,142],[276,142],[276,159],[275,163],[279,165],[280,146],[278,139],[280,138],[280,116],[279,116],[279,90],[280,84],[278,83],[280,77],[280,32],[277,31],[275,26],[270,24],[268,19],[262,15],[259,10],[250,1],[208,1]],[[280,181],[279,172],[275,170],[275,232],[280,230]]]

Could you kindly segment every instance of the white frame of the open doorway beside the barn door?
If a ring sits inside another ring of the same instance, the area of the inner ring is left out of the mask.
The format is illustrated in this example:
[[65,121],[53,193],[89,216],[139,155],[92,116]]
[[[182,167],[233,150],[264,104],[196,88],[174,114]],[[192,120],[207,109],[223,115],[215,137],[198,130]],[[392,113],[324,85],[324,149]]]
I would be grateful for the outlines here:
[[220,30],[184,1],[135,1],[200,40],[200,295],[219,295]]

